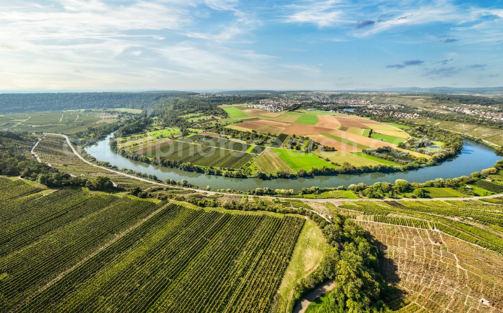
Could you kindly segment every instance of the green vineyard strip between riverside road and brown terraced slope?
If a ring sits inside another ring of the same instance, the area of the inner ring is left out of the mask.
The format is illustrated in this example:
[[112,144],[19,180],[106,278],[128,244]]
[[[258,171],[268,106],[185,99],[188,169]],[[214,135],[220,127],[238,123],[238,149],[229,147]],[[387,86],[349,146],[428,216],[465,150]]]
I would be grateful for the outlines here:
[[503,204],[500,202],[378,201],[346,203],[330,208],[358,220],[439,229],[466,242],[503,253]]

